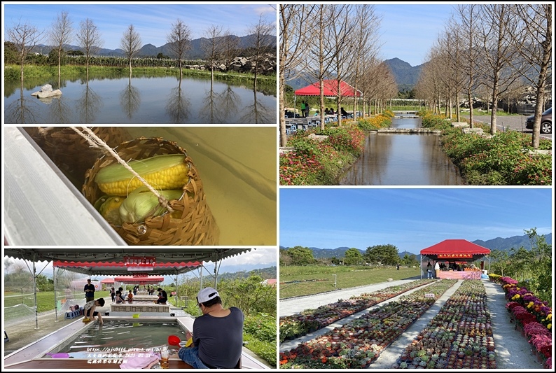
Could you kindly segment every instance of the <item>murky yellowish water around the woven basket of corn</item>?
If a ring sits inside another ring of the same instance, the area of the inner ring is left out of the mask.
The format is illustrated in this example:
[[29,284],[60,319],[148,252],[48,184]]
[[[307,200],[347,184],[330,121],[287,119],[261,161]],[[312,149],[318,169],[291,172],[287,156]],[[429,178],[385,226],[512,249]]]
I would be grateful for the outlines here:
[[[187,150],[220,229],[219,245],[277,244],[275,127],[118,127],[119,135],[162,137]],[[81,190],[84,168],[68,169],[63,158],[49,155]]]

